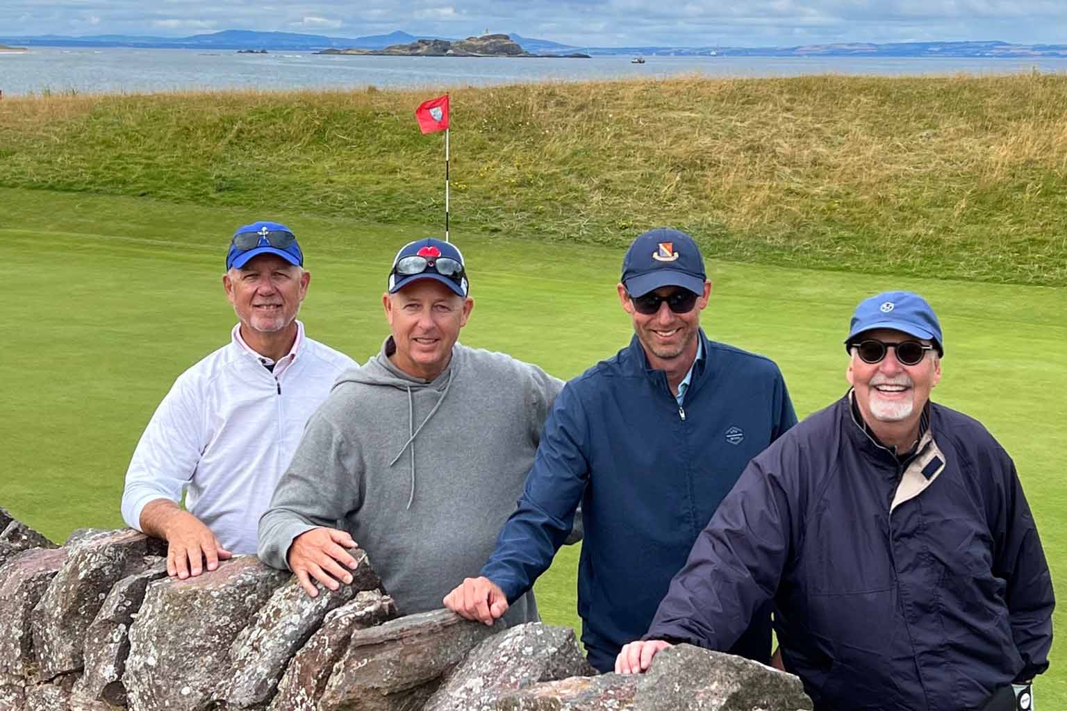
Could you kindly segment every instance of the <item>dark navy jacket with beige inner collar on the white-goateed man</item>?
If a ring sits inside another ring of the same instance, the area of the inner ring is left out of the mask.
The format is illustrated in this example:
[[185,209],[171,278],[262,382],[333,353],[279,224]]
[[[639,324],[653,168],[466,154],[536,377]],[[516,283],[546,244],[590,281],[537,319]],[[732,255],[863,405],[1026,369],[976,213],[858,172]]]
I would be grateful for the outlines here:
[[904,463],[847,395],[791,430],[719,506],[647,636],[726,649],[774,596],[785,667],[819,711],[975,709],[1044,672],[1052,582],[1015,465],[975,420],[928,416]]

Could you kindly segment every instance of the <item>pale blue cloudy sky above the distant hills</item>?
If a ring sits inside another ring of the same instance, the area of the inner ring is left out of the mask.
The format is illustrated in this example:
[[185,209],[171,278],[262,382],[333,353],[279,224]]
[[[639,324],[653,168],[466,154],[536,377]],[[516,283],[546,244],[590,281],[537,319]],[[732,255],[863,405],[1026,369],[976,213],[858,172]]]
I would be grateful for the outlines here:
[[1067,44],[1065,0],[2,0],[0,35],[517,33],[569,45]]

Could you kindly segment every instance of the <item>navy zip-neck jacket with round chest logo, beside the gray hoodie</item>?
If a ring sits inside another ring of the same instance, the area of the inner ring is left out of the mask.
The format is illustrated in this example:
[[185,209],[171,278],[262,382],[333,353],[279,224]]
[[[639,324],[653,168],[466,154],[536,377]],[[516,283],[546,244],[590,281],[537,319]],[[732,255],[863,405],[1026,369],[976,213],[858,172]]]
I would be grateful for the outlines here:
[[[601,670],[648,629],[748,460],[796,423],[773,361],[700,338],[704,357],[681,407],[636,337],[563,387],[519,508],[482,568],[516,599],[552,563],[580,501],[578,614]],[[755,628],[738,651],[766,660],[769,604]]]

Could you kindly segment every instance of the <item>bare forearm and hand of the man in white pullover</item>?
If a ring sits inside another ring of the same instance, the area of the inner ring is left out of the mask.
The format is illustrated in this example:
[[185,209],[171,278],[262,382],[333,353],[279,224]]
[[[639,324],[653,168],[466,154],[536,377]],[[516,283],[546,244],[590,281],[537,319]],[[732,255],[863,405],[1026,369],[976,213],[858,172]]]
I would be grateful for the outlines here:
[[195,578],[233,556],[203,521],[166,499],[157,499],[144,507],[141,529],[166,542],[166,575],[172,578]]

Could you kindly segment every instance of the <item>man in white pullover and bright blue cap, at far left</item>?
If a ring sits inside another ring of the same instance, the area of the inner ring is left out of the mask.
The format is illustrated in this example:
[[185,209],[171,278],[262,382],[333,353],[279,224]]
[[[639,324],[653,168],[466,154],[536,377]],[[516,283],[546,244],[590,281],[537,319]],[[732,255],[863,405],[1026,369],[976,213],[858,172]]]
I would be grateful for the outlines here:
[[171,576],[256,552],[259,516],[307,418],[355,365],[297,321],[312,276],[303,263],[285,225],[237,229],[222,284],[240,323],[228,344],[178,376],[133,452],[123,518],[168,542]]

